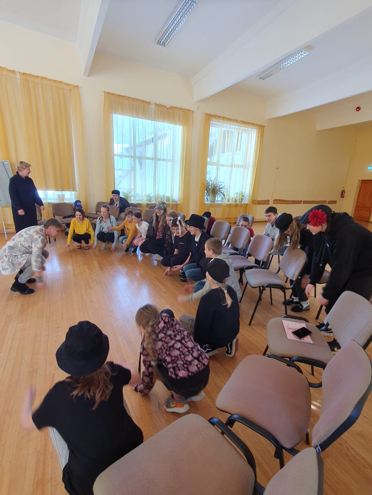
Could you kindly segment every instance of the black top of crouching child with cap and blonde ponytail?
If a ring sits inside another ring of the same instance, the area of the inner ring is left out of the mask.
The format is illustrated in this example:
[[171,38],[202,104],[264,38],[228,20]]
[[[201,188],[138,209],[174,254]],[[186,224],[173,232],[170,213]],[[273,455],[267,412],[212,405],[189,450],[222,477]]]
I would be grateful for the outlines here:
[[232,299],[228,308],[223,305],[225,294],[221,288],[211,289],[201,297],[195,316],[194,341],[199,346],[224,347],[232,342],[240,329],[240,308],[237,293],[229,285]]

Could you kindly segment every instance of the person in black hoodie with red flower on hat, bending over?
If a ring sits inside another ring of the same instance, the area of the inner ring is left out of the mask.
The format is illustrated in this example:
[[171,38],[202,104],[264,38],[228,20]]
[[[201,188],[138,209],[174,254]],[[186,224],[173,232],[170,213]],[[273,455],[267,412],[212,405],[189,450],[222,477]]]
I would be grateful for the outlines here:
[[[347,213],[335,213],[325,204],[310,208],[301,217],[300,222],[307,224],[314,236],[310,283],[305,291],[307,296],[321,279],[328,263],[332,270],[323,294],[319,297],[320,304],[325,306],[326,314],[345,291],[355,292],[370,299],[372,232],[356,223]],[[332,336],[332,331],[326,325],[318,325],[318,328],[323,335]],[[336,349],[337,347],[334,350]]]

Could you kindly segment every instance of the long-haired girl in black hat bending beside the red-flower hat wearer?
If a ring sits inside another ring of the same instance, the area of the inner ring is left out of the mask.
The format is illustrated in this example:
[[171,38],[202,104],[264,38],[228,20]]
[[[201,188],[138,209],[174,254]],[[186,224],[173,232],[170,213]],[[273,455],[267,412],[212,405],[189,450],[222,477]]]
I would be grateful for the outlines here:
[[[307,263],[293,287],[293,296],[287,300],[287,305],[295,304],[291,308],[291,311],[294,313],[309,311],[309,297],[305,294],[305,287],[309,280],[312,256],[314,253],[313,237],[310,232],[304,228],[304,225],[300,223],[300,217],[293,218],[290,213],[282,213],[279,215],[275,221],[275,227],[279,230],[279,234],[274,243],[275,252],[279,252],[280,249],[287,246],[289,238],[289,246],[287,249],[297,249],[300,247],[308,256]],[[293,280],[290,281],[291,285],[293,282]]]

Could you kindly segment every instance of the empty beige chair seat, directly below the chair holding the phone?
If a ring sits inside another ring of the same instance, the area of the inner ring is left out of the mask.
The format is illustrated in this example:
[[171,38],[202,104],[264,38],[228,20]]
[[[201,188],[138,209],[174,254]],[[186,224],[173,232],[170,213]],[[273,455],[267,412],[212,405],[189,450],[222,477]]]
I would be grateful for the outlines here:
[[253,421],[286,448],[301,442],[309,429],[311,396],[306,377],[266,356],[243,359],[216,405]]

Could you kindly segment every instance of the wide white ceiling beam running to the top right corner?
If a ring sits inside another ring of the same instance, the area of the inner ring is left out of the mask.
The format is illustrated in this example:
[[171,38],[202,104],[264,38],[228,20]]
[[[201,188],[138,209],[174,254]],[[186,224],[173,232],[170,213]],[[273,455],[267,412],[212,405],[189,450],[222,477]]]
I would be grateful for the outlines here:
[[191,79],[194,101],[263,71],[371,7],[372,0],[282,0]]

